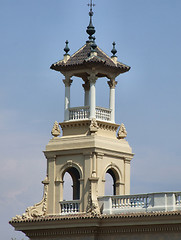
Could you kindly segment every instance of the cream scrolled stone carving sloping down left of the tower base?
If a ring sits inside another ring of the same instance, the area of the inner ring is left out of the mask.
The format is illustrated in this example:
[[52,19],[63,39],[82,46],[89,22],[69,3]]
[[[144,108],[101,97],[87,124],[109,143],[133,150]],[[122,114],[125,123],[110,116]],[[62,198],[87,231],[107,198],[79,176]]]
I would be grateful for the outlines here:
[[22,216],[16,215],[15,217],[12,218],[11,221],[19,221],[19,220],[32,219],[32,218],[45,216],[47,211],[47,195],[48,195],[48,185],[45,184],[42,201],[35,204],[32,207],[28,207],[25,210],[25,213],[22,214]]

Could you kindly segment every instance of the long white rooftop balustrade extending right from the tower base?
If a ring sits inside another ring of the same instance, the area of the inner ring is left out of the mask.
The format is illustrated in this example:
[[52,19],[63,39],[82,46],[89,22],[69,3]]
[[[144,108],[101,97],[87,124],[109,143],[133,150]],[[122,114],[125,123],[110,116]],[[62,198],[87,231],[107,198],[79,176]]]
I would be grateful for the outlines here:
[[181,192],[99,197],[103,214],[181,210]]

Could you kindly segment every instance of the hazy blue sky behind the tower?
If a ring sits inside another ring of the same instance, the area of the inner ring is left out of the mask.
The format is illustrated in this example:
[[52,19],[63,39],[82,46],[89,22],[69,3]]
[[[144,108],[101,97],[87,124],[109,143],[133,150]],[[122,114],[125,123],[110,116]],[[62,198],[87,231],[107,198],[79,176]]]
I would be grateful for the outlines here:
[[[0,0],[1,238],[26,239],[8,221],[39,202],[43,154],[54,121],[63,121],[63,76],[50,65],[88,36],[88,0]],[[181,1],[95,0],[96,43],[131,66],[117,78],[116,123],[124,123],[135,153],[131,193],[181,191]],[[73,79],[71,106],[83,105]],[[106,81],[97,105],[108,107]]]

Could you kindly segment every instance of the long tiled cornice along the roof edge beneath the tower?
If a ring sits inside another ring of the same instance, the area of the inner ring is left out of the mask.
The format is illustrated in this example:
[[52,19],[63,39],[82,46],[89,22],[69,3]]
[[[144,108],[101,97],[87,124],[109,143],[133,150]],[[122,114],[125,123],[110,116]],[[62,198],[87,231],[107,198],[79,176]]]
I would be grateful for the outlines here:
[[88,214],[80,214],[79,216],[49,216],[49,218],[45,217],[44,219],[37,218],[21,222],[11,221],[10,224],[17,230],[25,232],[28,237],[148,232],[181,233],[181,212],[100,216]]

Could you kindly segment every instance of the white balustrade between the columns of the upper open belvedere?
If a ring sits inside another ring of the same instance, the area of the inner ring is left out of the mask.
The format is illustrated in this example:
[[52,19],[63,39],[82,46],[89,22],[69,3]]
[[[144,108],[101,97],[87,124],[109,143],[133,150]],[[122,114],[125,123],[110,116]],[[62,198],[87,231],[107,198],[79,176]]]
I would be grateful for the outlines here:
[[[69,108],[69,120],[89,119],[89,116],[89,106]],[[96,107],[96,119],[111,121],[111,109]]]

